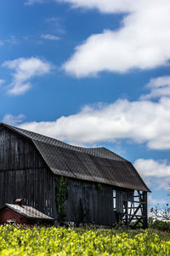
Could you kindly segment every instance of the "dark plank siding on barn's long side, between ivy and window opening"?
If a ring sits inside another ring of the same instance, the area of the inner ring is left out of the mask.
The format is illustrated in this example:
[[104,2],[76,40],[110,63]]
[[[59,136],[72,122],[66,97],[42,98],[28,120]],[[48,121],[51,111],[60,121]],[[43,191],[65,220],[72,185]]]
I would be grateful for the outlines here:
[[115,217],[111,186],[102,185],[102,190],[99,191],[94,183],[70,179],[67,188],[68,200],[65,204],[67,221],[113,224]]

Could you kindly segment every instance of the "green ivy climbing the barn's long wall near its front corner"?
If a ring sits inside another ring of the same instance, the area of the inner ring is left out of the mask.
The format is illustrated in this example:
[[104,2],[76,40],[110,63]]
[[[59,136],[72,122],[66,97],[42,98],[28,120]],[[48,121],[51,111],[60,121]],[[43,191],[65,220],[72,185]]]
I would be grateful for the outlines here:
[[67,199],[67,177],[59,177],[55,182],[55,200],[59,221],[65,218],[65,201]]

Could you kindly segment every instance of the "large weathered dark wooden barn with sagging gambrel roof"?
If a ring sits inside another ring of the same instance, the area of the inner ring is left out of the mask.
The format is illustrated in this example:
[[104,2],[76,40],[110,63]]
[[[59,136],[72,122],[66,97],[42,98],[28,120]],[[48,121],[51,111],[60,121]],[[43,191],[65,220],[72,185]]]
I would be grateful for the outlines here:
[[133,165],[106,148],[0,124],[0,208],[20,198],[56,220],[146,228],[147,192]]

